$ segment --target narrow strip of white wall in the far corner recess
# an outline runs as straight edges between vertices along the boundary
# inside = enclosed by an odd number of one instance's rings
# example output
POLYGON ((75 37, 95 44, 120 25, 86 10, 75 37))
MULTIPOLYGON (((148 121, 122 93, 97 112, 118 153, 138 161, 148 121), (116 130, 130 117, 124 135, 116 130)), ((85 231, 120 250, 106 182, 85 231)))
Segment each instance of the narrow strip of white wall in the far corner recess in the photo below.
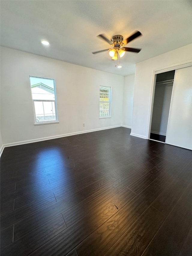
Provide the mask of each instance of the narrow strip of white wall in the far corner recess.
POLYGON ((122 125, 131 128, 135 74, 124 77, 122 125))

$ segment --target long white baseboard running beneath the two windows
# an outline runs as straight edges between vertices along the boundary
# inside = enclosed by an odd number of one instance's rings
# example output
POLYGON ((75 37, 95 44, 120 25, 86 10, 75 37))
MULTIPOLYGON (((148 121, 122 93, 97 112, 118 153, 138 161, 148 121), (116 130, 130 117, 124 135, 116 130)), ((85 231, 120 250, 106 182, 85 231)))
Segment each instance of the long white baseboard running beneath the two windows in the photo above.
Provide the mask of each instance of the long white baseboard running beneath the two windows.
POLYGON ((72 133, 67 133, 67 134, 38 138, 38 139, 34 139, 34 140, 23 140, 23 141, 18 141, 18 142, 13 142, 13 143, 7 143, 7 144, 4 144, 4 147, 18 146, 18 145, 22 145, 22 144, 34 143, 34 142, 39 142, 39 141, 43 141, 43 140, 52 140, 52 139, 57 139, 57 138, 62 138, 62 137, 67 137, 67 136, 72 136, 72 135, 77 135, 77 134, 83 134, 83 133, 88 133, 88 132, 93 132, 93 131, 101 131, 101 130, 117 128, 117 127, 121 127, 121 125, 98 128, 98 129, 87 130, 87 131, 72 132, 72 133))

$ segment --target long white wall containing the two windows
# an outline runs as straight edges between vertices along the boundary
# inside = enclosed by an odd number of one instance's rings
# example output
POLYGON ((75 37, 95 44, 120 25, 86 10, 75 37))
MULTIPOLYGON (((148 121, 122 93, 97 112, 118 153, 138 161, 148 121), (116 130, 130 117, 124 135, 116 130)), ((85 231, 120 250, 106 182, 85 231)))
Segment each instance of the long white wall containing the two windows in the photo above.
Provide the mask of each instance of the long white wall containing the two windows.
POLYGON ((124 77, 1 47, 4 144, 122 124, 124 77), (58 124, 34 126, 29 76, 55 79, 58 124), (111 118, 99 119, 99 86, 112 87, 111 118), (85 127, 82 127, 82 123, 85 127))

